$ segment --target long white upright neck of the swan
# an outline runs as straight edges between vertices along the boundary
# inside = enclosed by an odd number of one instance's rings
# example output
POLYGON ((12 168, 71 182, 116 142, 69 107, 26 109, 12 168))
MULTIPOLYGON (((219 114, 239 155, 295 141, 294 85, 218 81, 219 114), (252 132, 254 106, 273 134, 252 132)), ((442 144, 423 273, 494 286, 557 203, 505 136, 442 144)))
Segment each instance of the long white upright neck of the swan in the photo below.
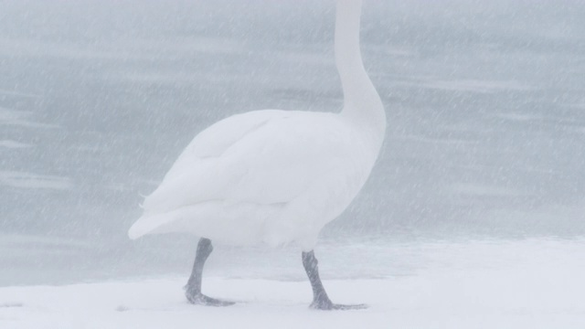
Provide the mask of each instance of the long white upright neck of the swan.
POLYGON ((341 115, 360 124, 379 149, 386 132, 386 114, 359 50, 361 5, 361 0, 337 0, 335 64, 344 90, 341 115))

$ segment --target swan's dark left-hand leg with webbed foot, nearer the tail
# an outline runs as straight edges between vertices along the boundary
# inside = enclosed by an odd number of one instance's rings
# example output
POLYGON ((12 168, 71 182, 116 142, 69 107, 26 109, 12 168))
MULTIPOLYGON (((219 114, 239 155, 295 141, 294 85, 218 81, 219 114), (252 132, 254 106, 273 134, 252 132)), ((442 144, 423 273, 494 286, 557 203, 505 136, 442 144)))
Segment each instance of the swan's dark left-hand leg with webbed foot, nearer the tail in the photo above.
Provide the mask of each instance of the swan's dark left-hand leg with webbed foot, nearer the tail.
POLYGON ((209 254, 213 251, 211 240, 206 238, 199 239, 197 244, 197 254, 195 256, 195 263, 193 264, 193 271, 189 281, 186 282, 185 295, 186 299, 193 304, 207 305, 207 306, 229 306, 235 302, 220 301, 215 298, 207 297, 201 293, 201 276, 203 274, 203 266, 209 254))

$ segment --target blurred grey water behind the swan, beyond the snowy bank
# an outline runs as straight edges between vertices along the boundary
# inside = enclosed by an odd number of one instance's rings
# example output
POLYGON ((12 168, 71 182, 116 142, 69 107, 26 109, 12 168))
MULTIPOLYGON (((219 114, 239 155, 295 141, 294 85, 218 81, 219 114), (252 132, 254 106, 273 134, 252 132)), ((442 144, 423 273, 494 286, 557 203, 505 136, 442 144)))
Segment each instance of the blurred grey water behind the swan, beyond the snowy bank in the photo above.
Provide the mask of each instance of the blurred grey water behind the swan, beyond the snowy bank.
MULTIPOLYGON (((366 1, 388 134, 324 240, 585 235, 583 17, 366 1)), ((188 271, 195 238, 126 238, 141 195, 221 118, 338 111, 333 25, 332 1, 0 1, 0 285, 188 271)))

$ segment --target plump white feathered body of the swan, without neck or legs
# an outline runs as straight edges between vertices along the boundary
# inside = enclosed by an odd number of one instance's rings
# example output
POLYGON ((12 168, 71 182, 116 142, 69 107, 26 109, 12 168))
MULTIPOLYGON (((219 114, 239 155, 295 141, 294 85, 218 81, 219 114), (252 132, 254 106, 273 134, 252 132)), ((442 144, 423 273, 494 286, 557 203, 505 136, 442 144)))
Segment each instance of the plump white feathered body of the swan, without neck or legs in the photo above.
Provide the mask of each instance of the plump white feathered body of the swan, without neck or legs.
POLYGON ((151 196, 133 237, 186 231, 218 242, 313 248, 356 196, 376 158, 332 113, 252 111, 189 144, 151 196))

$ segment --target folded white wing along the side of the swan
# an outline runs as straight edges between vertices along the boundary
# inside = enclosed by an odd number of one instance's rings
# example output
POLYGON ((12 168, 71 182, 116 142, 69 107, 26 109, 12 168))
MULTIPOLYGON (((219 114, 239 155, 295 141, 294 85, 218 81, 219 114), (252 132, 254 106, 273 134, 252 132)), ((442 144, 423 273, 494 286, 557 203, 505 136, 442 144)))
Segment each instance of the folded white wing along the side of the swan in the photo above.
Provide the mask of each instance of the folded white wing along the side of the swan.
POLYGON ((210 200, 287 203, 323 175, 359 166, 357 140, 335 114, 254 111, 230 117, 197 135, 146 197, 144 211, 210 200))

